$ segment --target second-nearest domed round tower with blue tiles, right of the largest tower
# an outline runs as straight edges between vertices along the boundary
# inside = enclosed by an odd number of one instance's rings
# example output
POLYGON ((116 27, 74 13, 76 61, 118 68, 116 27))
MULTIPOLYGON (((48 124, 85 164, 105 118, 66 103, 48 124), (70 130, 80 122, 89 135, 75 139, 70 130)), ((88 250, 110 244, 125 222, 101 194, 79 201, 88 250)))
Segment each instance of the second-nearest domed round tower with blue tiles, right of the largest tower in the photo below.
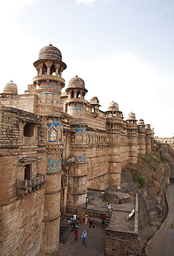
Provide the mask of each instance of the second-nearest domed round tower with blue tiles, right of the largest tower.
POLYGON ((67 210, 74 211, 77 206, 84 205, 87 194, 87 161, 86 161, 86 95, 84 80, 79 77, 70 79, 66 93, 66 111, 71 116, 72 134, 71 156, 75 163, 69 172, 67 210))

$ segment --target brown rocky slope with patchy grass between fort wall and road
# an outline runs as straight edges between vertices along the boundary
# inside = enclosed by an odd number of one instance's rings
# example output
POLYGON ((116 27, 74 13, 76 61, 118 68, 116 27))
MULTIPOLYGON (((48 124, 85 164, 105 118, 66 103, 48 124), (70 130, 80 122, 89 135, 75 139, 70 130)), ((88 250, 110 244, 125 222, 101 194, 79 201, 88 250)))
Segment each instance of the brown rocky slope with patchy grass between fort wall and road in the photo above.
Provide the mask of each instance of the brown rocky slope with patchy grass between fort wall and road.
POLYGON ((158 145, 154 148, 153 154, 139 158, 137 164, 127 165, 122 172, 122 192, 139 194, 140 229, 149 221, 160 225, 167 213, 165 192, 173 173, 174 151, 168 145, 158 145), (136 180, 135 170, 139 176, 146 179, 146 185, 143 187, 136 180))

